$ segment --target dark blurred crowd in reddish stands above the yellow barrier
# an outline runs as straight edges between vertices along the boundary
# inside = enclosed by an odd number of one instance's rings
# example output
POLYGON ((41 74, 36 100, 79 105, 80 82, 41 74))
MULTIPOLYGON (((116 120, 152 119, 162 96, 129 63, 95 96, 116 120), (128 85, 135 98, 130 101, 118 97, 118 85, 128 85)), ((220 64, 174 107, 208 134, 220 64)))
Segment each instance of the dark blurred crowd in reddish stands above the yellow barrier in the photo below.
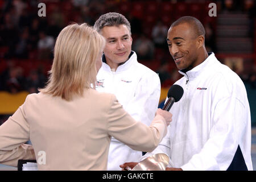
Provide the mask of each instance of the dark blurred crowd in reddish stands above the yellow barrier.
MULTIPOLYGON (((118 12, 131 23, 132 49, 140 63, 159 73, 163 87, 170 87, 180 78, 168 52, 166 36, 171 23, 183 15, 198 18, 205 27, 208 51, 218 55, 216 29, 218 14, 247 14, 250 19, 249 36, 254 51, 253 65, 243 71, 243 58, 220 59, 248 82, 255 84, 255 2, 246 1, 122 1, 122 0, 0 0, 0 90, 17 93, 26 90, 37 93, 47 82, 51 68, 53 47, 59 32, 71 22, 88 23, 108 12, 118 12), (46 4, 46 16, 39 17, 39 3, 46 4), (209 3, 216 3, 217 16, 210 17, 209 3)), ((225 54, 224 54, 225 55, 225 54)), ((223 56, 223 54, 222 54, 223 56)))

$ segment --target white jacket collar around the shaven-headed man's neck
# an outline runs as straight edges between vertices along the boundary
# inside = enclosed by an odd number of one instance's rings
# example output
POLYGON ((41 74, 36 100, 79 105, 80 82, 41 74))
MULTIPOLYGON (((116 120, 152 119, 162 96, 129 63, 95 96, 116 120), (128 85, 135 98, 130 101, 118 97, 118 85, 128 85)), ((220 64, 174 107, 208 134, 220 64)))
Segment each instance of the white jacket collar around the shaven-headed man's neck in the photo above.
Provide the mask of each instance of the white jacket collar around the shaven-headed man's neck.
POLYGON ((203 63, 197 65, 195 68, 185 73, 182 71, 179 71, 179 73, 181 75, 184 75, 189 81, 194 80, 197 76, 199 76, 202 72, 204 72, 207 67, 210 67, 212 63, 216 63, 216 61, 218 61, 213 52, 209 52, 208 55, 209 56, 207 57, 207 59, 205 59, 203 63))

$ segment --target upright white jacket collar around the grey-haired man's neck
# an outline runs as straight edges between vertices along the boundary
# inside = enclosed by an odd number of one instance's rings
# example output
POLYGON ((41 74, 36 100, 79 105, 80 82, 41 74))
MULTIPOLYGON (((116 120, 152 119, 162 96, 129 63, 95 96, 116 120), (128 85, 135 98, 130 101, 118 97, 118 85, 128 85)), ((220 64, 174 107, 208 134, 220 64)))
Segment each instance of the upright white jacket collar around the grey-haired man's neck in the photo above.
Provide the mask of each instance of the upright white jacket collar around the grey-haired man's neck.
MULTIPOLYGON (((119 67, 117 67, 117 70, 115 72, 123 72, 126 71, 127 69, 129 69, 131 67, 131 65, 133 65, 134 63, 138 63, 137 61, 137 55, 134 51, 131 51, 130 55, 129 55, 129 59, 123 63, 122 65, 119 65, 119 67)), ((105 69, 106 71, 111 71, 111 68, 109 67, 108 64, 106 64, 106 58, 105 55, 102 56, 102 69, 105 69)))

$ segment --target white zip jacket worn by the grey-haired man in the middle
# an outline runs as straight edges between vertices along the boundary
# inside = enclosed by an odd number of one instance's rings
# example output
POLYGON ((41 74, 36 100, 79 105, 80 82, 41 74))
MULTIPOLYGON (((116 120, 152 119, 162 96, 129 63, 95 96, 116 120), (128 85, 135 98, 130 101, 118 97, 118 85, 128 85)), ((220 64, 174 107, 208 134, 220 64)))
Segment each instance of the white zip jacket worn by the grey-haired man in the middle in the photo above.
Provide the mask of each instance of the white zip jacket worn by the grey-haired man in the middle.
MULTIPOLYGON (((137 55, 131 51, 130 59, 112 72, 104 63, 97 75, 96 90, 115 94, 119 103, 135 120, 147 126, 155 116, 160 98, 160 79, 151 69, 138 63, 137 55)), ((102 101, 104 102, 104 101, 102 101)), ((121 170, 120 164, 137 161, 141 151, 134 151, 112 138, 109 148, 108 170, 121 170)))

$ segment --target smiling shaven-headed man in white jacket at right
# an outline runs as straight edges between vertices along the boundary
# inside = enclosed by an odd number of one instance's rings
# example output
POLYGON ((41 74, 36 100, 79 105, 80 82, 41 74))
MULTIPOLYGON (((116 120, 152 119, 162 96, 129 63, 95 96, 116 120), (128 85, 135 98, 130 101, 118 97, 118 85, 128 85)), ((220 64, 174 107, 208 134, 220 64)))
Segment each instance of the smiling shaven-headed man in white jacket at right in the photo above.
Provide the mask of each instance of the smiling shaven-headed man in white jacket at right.
POLYGON ((184 94, 170 109, 173 122, 166 137, 143 158, 165 153, 171 159, 167 170, 253 170, 245 86, 213 52, 207 53, 204 40, 198 19, 183 16, 172 23, 167 43, 183 75, 175 84, 184 94))

